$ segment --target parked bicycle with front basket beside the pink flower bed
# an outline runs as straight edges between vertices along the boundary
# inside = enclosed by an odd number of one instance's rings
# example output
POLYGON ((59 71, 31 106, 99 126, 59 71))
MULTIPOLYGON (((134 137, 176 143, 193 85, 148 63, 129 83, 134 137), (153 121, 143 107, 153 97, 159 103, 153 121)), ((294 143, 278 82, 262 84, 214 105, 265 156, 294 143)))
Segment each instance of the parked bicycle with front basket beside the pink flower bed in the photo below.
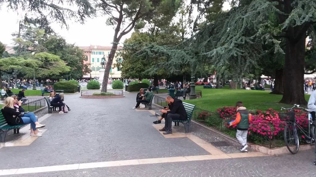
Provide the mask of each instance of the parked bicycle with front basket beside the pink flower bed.
POLYGON ((284 141, 285 145, 288 148, 288 150, 292 154, 296 154, 299 150, 300 144, 299 144, 299 138, 297 134, 297 128, 301 131, 301 133, 304 134, 305 136, 305 141, 307 143, 310 143, 311 146, 314 145, 315 143, 315 122, 312 120, 311 117, 311 110, 300 107, 300 105, 294 105, 291 108, 281 108, 282 110, 289 110, 289 112, 286 113, 279 113, 279 118, 281 121, 285 121, 286 125, 284 127, 284 141), (296 118, 295 118, 295 112, 293 111, 293 108, 302 108, 304 111, 307 111, 307 119, 308 119, 308 132, 305 131, 299 124, 296 123, 296 118), (310 142, 309 142, 310 141, 310 142), (291 143, 294 142, 294 145, 291 143))

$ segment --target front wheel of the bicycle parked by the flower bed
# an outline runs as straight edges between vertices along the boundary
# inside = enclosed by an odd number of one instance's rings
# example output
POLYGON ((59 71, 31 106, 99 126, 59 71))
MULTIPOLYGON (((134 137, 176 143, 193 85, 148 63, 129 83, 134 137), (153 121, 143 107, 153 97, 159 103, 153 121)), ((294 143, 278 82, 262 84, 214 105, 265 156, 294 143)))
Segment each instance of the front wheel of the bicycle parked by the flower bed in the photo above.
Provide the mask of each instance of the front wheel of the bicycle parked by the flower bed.
POLYGON ((297 129, 296 127, 293 127, 292 123, 288 123, 285 125, 284 128, 284 141, 285 141, 285 146, 288 148, 288 150, 292 154, 296 154, 300 144, 298 140, 298 135, 297 135, 297 129))

